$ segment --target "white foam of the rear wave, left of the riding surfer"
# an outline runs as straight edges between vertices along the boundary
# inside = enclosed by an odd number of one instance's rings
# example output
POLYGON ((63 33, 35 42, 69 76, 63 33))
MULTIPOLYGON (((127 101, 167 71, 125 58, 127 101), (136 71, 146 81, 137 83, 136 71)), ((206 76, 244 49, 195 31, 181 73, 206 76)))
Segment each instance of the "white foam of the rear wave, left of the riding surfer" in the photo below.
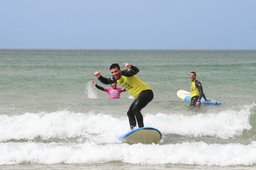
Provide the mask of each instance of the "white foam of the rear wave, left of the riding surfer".
POLYGON ((95 115, 93 112, 82 114, 58 111, 42 114, 26 113, 13 117, 1 115, 0 141, 32 140, 37 136, 42 139, 83 136, 97 142, 113 142, 116 141, 115 136, 118 133, 116 129, 127 130, 117 128, 124 124, 127 124, 126 128, 129 127, 128 121, 100 113, 95 115), (111 135, 113 138, 108 137, 109 133, 113 133, 111 135))

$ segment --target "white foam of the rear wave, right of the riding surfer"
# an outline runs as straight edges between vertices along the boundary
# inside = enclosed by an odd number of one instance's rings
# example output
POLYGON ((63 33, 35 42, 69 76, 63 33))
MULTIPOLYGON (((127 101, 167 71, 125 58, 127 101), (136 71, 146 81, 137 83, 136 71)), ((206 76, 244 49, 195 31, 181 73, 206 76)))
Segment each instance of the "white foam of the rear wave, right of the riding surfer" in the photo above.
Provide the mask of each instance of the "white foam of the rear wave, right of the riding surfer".
POLYGON ((217 136, 220 138, 241 135, 244 129, 251 129, 250 108, 245 106, 237 110, 226 110, 220 113, 197 114, 192 116, 167 115, 158 113, 147 115, 145 121, 151 122, 153 127, 161 129, 164 134, 179 134, 189 136, 217 136))

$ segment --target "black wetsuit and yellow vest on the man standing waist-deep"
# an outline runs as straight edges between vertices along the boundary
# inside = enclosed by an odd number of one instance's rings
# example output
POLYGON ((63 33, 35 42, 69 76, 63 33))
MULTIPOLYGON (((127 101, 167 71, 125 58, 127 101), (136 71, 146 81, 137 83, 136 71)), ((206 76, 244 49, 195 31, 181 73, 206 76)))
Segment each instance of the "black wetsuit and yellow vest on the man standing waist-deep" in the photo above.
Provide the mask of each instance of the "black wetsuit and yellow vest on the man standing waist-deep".
MULTIPOLYGON (((204 100, 207 100, 205 95, 204 95, 204 92, 203 92, 202 84, 200 83, 200 81, 195 79, 191 83, 191 102, 190 102, 190 106, 196 106, 196 102, 200 102, 202 97, 204 98, 204 100)), ((200 102, 200 104, 201 104, 201 102, 200 102)))

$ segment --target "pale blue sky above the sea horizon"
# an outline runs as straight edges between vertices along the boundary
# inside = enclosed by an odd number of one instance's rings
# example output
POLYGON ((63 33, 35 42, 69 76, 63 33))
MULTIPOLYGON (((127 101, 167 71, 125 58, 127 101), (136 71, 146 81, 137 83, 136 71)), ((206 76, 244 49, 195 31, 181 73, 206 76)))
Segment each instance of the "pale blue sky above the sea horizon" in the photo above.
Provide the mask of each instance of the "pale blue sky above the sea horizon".
POLYGON ((256 49, 256 0, 0 4, 2 49, 256 49))

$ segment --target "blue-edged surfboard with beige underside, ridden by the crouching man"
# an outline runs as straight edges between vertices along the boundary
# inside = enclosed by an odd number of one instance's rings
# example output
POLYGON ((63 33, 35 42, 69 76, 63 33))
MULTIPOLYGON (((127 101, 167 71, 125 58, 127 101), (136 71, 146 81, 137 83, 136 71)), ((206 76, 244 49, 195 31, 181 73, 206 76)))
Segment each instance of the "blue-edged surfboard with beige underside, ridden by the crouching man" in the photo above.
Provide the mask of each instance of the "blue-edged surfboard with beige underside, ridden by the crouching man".
POLYGON ((156 128, 143 127, 134 129, 122 136, 118 137, 124 143, 134 144, 157 144, 162 138, 162 133, 156 128))

